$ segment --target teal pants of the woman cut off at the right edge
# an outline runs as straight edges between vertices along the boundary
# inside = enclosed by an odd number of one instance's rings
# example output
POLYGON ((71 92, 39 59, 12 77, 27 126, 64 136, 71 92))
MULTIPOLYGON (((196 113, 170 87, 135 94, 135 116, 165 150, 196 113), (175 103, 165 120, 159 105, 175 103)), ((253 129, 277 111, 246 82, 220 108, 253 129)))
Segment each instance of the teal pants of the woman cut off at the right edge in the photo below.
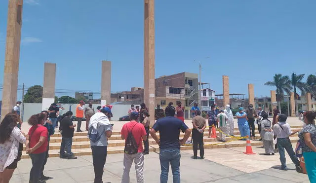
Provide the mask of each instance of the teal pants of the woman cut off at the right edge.
POLYGON ((311 183, 316 183, 316 152, 303 152, 305 167, 311 183))

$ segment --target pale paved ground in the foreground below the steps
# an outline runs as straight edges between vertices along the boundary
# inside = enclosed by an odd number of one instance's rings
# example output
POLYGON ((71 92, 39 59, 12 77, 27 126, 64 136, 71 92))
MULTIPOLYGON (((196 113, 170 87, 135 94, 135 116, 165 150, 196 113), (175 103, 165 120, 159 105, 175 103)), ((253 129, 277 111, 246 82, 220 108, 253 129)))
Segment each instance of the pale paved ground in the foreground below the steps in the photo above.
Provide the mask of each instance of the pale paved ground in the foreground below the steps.
MULTIPOLYGON (((243 154, 243 147, 206 149, 205 159, 192 159, 192 150, 181 151, 182 183, 309 183, 305 174, 295 171, 289 164, 288 171, 280 170, 279 155, 264 156, 264 150, 253 147, 255 155, 243 154)), ((123 170, 123 154, 109 154, 103 174, 104 183, 119 183, 123 170)), ((292 163, 287 158, 287 163, 292 163)), ((136 183, 135 171, 130 171, 131 183, 136 183)), ((31 160, 22 159, 12 177, 12 183, 27 183, 31 160)), ((92 156, 79 156, 77 160, 49 158, 44 174, 53 179, 47 183, 92 183, 94 179, 92 156)), ((158 153, 145 156, 145 183, 159 183, 160 164, 158 153)), ((169 173, 169 183, 172 175, 169 173)))

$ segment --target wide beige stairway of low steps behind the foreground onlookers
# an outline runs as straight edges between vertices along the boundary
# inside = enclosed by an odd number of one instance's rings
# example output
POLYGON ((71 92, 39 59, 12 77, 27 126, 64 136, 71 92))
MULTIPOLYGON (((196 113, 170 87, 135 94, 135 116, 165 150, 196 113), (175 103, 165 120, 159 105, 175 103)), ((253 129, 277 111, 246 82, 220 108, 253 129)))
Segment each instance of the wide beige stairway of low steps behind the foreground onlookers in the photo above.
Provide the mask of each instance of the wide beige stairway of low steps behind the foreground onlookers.
MULTIPOLYGON (((292 126, 292 130, 300 130, 302 129, 302 126, 292 126)), ((217 136, 219 135, 219 132, 216 131, 217 136)), ((159 134, 157 133, 158 137, 159 134)), ((191 134, 192 135, 192 134, 191 134)), ((239 131, 237 128, 234 130, 235 137, 240 137, 239 131)), ((263 143, 258 141, 260 139, 259 132, 256 130, 256 138, 255 140, 251 140, 252 146, 262 146, 263 143)), ((180 138, 183 138, 184 133, 180 133, 180 138)), ((204 148, 230 148, 230 147, 243 147, 245 146, 245 141, 232 141, 227 143, 220 143, 217 142, 217 139, 214 138, 207 138, 208 136, 208 128, 204 130, 204 148)), ((191 136, 189 140, 191 139, 191 136)), ((233 138, 226 138, 226 141, 234 140, 233 138)), ((297 142, 298 136, 297 134, 290 137, 290 140, 292 143, 297 142)), ((108 141, 108 154, 115 154, 115 153, 123 153, 124 151, 124 144, 125 141, 121 140, 120 134, 118 131, 113 132, 113 135, 111 138, 109 138, 108 141)), ((61 144, 61 134, 59 132, 56 132, 54 135, 50 138, 49 143, 49 157, 59 157, 59 149, 61 144)), ((181 146, 181 150, 188 150, 192 149, 192 146, 181 146)), ((155 140, 149 136, 149 150, 150 151, 159 151, 159 146, 155 142, 155 140)), ((80 155, 91 155, 91 148, 90 148, 90 141, 87 138, 87 132, 75 132, 74 138, 73 138, 73 146, 72 146, 72 152, 76 156, 80 155)), ((22 158, 29 158, 30 156, 25 153, 25 150, 22 153, 22 158)))

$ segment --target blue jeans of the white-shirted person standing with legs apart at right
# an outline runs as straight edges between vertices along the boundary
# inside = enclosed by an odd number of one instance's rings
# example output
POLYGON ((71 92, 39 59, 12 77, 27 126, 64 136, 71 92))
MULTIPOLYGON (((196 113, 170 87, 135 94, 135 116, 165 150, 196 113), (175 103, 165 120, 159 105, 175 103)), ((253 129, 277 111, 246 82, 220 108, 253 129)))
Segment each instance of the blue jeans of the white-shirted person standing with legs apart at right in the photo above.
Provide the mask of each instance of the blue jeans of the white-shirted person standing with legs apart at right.
POLYGON ((300 161, 297 159, 295 152, 293 150, 291 141, 289 138, 277 138, 277 148, 278 148, 278 153, 280 154, 280 161, 281 161, 281 168, 284 169, 286 168, 286 162, 285 162, 285 151, 288 153, 290 156, 291 160, 295 164, 295 166, 300 165, 300 161))

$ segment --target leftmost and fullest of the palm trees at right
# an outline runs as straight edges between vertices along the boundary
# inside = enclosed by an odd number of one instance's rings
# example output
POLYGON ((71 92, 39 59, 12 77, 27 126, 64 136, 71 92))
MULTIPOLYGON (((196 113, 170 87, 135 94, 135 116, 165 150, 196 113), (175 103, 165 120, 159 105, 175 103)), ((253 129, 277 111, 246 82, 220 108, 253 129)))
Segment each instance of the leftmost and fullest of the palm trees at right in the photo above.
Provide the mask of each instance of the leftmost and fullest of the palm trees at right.
POLYGON ((287 75, 277 73, 275 76, 273 76, 273 81, 268 81, 265 83, 265 85, 276 86, 276 101, 278 110, 281 112, 281 100, 283 99, 284 92, 290 93, 292 89, 289 77, 287 75))

